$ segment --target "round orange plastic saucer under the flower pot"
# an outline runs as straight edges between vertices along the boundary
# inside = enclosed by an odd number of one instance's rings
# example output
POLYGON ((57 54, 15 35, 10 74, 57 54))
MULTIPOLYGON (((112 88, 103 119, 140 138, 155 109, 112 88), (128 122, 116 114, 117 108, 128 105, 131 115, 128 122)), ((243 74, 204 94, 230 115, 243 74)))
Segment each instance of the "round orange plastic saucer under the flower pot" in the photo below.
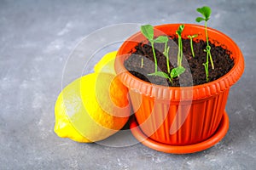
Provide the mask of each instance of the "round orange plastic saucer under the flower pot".
POLYGON ((219 123, 219 127, 212 135, 211 138, 202 141, 201 143, 197 144, 189 144, 189 145, 168 145, 168 144, 162 144, 160 142, 157 142, 153 139, 148 138, 138 127, 137 122, 135 118, 131 120, 130 129, 133 136, 142 144, 148 146, 149 148, 153 150, 158 150, 166 153, 172 153, 172 154, 189 154, 198 152, 201 150, 206 150, 212 145, 217 144, 221 139, 224 138, 224 135, 228 132, 229 129, 229 117, 227 113, 224 111, 224 116, 219 123))

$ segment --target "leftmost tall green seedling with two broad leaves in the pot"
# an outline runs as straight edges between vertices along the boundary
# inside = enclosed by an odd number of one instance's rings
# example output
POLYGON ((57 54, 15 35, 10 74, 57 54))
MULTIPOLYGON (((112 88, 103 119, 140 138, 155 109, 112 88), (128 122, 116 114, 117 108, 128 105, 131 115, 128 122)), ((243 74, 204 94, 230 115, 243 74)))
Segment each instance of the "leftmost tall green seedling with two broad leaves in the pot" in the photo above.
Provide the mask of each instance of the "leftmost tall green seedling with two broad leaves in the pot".
POLYGON ((166 42, 166 39, 168 41, 168 38, 165 36, 160 36, 154 39, 154 27, 150 25, 144 25, 141 26, 141 32, 143 33, 143 36, 148 39, 148 41, 151 43, 152 52, 154 55, 154 73, 157 72, 157 59, 154 51, 154 42, 166 42))

